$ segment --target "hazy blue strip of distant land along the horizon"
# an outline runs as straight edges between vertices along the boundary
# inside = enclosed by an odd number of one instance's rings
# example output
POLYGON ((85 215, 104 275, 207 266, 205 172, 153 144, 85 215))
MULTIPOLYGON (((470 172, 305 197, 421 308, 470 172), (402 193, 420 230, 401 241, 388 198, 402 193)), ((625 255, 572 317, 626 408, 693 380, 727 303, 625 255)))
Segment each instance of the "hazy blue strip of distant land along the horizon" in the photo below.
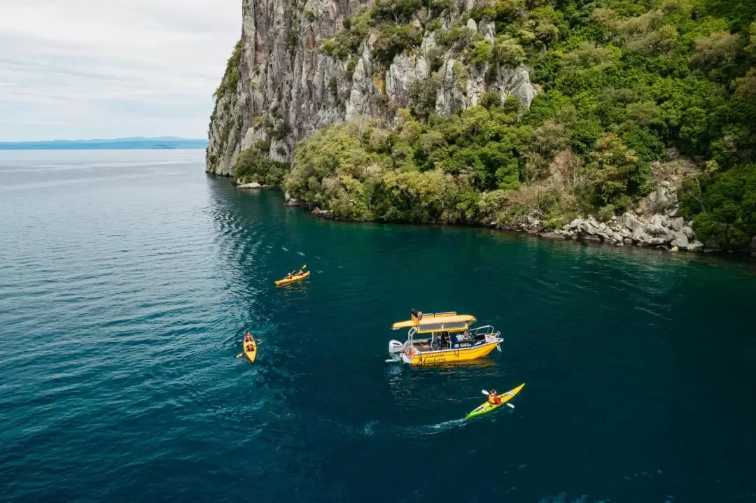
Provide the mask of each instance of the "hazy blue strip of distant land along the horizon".
POLYGON ((95 140, 0 141, 0 150, 204 149, 207 140, 194 138, 129 137, 95 140))

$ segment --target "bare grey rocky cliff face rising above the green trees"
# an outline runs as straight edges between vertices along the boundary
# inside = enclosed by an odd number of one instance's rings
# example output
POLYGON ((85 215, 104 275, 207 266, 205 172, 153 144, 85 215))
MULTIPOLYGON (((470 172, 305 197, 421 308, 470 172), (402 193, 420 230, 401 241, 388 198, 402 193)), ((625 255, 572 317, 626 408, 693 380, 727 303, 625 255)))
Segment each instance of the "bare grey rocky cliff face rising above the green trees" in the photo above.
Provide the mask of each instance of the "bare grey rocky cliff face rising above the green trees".
MULTIPOLYGON (((463 63, 453 50, 439 48, 437 30, 423 29, 417 20, 414 24, 423 32, 420 48, 397 54, 389 65, 374 60, 375 33, 361 42, 356 57, 340 60, 326 54, 323 42, 342 29, 345 18, 370 3, 243 0, 239 78, 234 88, 216 98, 208 172, 230 175, 240 151, 253 144, 273 160, 290 161, 296 143, 319 128, 361 116, 392 121, 398 108, 413 99, 415 83, 423 86, 423 96, 435 98, 433 106, 442 114, 475 105, 491 91, 502 100, 515 95, 530 106, 536 89, 528 69, 489 72, 485 66, 463 63), (438 66, 435 72, 432 66, 438 66)), ((442 27, 470 8, 472 2, 457 2, 445 11, 442 27)), ((494 23, 480 25, 471 19, 466 28, 492 40, 494 23)))

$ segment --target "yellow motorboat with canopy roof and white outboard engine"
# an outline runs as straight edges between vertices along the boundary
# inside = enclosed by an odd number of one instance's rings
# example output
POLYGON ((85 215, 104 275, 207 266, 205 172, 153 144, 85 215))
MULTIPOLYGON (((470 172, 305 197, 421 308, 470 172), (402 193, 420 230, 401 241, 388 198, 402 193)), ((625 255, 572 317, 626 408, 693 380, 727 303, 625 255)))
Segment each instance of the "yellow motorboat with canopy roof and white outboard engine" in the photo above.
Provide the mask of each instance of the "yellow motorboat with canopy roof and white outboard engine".
POLYGON ((389 341, 387 362, 413 366, 457 363, 476 360, 491 353, 503 339, 490 325, 471 329, 476 317, 469 314, 423 314, 413 309, 407 321, 396 322, 392 329, 409 329, 407 341, 389 341), (417 337, 421 335, 421 337, 417 337))

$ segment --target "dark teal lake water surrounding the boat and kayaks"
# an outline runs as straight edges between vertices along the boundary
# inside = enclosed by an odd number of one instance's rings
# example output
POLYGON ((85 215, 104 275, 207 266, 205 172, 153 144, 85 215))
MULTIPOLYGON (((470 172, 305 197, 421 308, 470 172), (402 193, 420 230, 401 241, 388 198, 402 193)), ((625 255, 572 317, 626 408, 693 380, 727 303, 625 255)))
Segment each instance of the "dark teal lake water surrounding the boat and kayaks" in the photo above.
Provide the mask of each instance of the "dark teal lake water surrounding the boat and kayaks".
POLYGON ((2 501, 756 501, 753 261, 281 202, 197 150, 2 153, 2 501), (503 351, 386 364, 412 307, 503 351))

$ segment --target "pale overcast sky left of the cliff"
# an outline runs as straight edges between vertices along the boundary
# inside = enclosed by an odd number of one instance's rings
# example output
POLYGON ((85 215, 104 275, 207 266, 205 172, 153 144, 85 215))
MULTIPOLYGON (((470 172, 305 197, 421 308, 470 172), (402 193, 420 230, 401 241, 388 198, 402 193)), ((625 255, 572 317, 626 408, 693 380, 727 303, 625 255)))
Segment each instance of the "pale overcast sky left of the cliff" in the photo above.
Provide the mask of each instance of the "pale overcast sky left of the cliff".
POLYGON ((206 137, 241 0, 0 5, 0 141, 206 137))

